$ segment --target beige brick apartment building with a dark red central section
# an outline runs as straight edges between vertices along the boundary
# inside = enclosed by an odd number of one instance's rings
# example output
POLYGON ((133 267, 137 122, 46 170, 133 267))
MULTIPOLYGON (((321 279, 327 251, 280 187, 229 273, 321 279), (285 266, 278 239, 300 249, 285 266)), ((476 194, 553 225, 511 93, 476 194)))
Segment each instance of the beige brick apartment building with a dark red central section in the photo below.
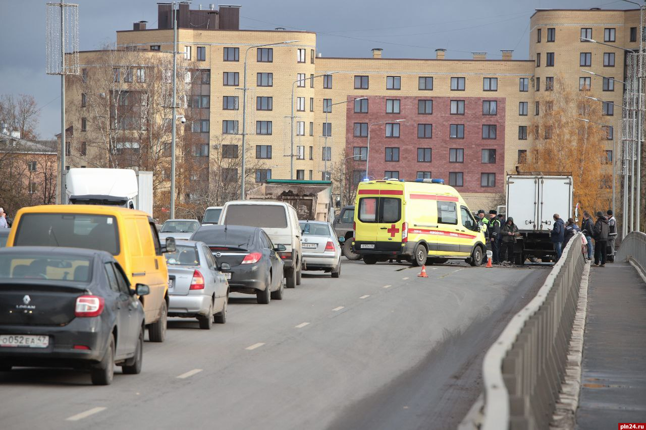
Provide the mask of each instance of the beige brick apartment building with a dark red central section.
MULTIPOLYGON (((168 57, 169 8, 158 5, 160 28, 140 22, 118 31, 118 48, 168 57)), ((181 68, 192 82, 185 105, 180 101, 190 121, 178 123, 178 130, 202 145, 195 155, 203 169, 216 168, 218 151, 241 154, 245 105, 247 166, 251 159, 255 170, 247 172, 250 181, 336 181, 335 169, 351 163, 351 183, 364 178, 368 161, 372 178, 444 178, 474 209, 486 209, 504 200, 506 172, 522 170, 533 144, 527 130, 539 114, 536 101, 551 79, 563 77, 576 90, 621 105, 620 83, 581 69, 623 81, 624 51, 580 38, 636 48, 639 12, 537 10, 530 18, 529 59, 516 59, 510 50, 451 59, 441 48, 432 59, 401 59, 380 48, 366 57, 323 57, 313 32, 240 30, 238 19, 235 6, 215 11, 183 4, 178 11, 181 68)), ((89 55, 81 54, 81 63, 89 55)), ((78 88, 68 92, 68 104, 78 103, 78 88)), ((602 108, 605 123, 620 130, 621 109, 599 103, 602 108)), ((68 115, 68 121, 81 128, 78 116, 68 115)), ((611 132, 609 137, 612 150, 611 132)), ((70 164, 76 166, 81 161, 73 152, 70 164)))

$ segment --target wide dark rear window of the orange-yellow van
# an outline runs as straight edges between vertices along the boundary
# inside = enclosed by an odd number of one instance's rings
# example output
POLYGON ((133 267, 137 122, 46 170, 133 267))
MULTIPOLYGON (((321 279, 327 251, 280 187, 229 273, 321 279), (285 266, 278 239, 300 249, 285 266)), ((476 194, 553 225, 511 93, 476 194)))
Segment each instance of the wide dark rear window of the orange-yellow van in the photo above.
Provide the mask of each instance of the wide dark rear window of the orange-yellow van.
POLYGON ((90 214, 24 214, 14 245, 98 249, 119 254, 114 216, 90 214))

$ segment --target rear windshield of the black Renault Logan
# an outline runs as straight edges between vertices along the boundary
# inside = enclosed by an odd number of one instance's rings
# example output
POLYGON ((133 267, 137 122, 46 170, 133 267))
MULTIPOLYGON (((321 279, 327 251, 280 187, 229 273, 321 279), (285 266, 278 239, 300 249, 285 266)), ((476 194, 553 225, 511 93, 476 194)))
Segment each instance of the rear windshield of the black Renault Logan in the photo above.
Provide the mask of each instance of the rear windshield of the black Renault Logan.
POLYGON ((90 282, 92 258, 45 254, 1 254, 0 279, 90 282))

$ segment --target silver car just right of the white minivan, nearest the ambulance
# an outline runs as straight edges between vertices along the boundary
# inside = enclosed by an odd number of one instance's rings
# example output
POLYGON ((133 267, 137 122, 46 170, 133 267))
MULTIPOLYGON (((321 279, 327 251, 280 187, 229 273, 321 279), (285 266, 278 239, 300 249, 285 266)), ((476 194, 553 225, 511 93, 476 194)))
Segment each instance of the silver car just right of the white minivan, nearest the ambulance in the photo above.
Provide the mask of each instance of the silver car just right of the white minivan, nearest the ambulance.
POLYGON ((303 234, 301 247, 306 271, 330 272, 332 278, 341 275, 339 238, 325 221, 300 221, 303 234))

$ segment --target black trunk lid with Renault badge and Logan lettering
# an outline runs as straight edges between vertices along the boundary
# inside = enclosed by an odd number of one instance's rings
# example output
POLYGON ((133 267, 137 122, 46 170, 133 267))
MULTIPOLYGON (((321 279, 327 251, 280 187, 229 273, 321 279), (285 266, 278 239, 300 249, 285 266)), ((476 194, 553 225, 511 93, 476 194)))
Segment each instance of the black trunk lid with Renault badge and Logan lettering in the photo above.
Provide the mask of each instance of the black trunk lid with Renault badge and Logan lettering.
POLYGON ((0 284, 0 324, 66 325, 85 289, 37 283, 0 284))

